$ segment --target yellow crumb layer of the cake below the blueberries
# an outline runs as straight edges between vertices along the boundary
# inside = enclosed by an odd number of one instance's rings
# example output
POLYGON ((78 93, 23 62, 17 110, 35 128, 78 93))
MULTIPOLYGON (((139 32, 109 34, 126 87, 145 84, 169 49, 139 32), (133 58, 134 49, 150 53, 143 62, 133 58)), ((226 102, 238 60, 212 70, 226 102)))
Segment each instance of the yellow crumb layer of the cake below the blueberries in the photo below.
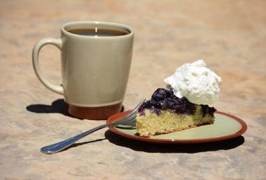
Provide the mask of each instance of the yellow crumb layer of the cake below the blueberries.
POLYGON ((161 111, 159 115, 149 109, 145 115, 136 116, 136 131, 139 136, 150 137, 157 134, 182 131, 203 124, 213 124, 214 117, 201 114, 201 106, 196 105, 196 111, 192 115, 177 114, 171 111, 161 111))

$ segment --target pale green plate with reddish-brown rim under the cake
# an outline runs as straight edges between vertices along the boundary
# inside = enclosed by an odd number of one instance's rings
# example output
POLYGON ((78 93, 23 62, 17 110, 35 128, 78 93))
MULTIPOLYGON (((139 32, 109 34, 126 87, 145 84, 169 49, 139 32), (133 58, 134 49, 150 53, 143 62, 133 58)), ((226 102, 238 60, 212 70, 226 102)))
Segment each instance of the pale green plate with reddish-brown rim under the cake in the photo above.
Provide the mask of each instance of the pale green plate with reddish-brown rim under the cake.
MULTIPOLYGON (((120 117, 124 117, 130 111, 118 113, 112 115, 107 120, 107 123, 114 122, 120 117)), ((131 138, 134 140, 141 140, 146 142, 157 143, 201 143, 201 142, 213 142, 217 140, 226 140, 229 138, 235 138, 240 136, 247 130, 247 124, 240 120, 240 118, 227 113, 216 112, 214 113, 214 124, 208 124, 198 126, 196 128, 187 129, 183 131, 177 131, 174 133, 167 133, 150 138, 143 138, 136 135, 136 129, 120 129, 116 127, 110 127, 109 129, 114 133, 125 138, 131 138)))

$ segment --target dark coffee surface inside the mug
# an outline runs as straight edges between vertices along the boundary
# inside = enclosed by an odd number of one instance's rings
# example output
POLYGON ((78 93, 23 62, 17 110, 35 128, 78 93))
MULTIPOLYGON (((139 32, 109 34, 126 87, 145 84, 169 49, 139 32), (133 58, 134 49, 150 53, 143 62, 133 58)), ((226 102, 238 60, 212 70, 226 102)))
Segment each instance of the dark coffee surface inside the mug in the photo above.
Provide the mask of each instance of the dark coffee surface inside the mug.
POLYGON ((111 28, 68 28, 67 31, 77 35, 88 35, 94 37, 119 36, 127 35, 129 33, 127 31, 111 28))

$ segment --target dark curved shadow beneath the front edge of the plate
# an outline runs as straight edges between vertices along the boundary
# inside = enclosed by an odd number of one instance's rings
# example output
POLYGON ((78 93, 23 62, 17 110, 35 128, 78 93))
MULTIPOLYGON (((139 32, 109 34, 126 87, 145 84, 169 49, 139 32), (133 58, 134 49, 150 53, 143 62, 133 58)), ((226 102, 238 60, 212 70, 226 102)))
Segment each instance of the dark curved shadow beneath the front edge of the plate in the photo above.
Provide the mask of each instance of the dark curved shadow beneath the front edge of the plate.
POLYGON ((198 152, 211 152, 218 150, 228 150, 238 147, 244 143, 244 137, 238 136, 228 140, 221 140, 217 142, 206 142, 201 144, 180 144, 180 145, 166 145, 166 144, 155 144, 150 142, 141 142, 138 140, 132 140, 119 136, 110 130, 104 133, 105 138, 109 142, 130 148, 138 152, 150 152, 150 153, 198 153, 198 152))

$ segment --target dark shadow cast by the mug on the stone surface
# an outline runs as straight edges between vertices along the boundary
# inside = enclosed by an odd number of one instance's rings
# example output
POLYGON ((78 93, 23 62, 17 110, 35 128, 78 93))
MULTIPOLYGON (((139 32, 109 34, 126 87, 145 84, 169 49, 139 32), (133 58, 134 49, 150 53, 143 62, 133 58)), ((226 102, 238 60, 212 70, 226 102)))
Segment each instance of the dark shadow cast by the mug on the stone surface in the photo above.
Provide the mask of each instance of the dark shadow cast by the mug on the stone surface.
MULTIPOLYGON (((60 113, 68 117, 73 117, 68 113, 64 99, 56 99, 52 102, 51 105, 31 104, 29 106, 26 106, 26 110, 32 113, 60 113)), ((125 108, 124 106, 122 106, 120 112, 123 112, 124 110, 125 108)))

